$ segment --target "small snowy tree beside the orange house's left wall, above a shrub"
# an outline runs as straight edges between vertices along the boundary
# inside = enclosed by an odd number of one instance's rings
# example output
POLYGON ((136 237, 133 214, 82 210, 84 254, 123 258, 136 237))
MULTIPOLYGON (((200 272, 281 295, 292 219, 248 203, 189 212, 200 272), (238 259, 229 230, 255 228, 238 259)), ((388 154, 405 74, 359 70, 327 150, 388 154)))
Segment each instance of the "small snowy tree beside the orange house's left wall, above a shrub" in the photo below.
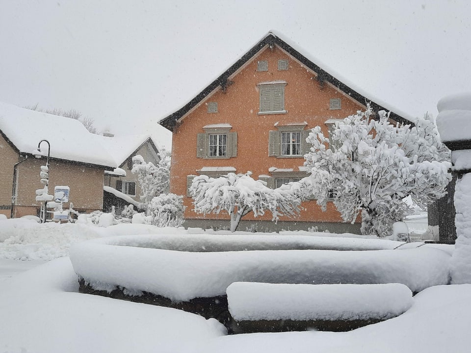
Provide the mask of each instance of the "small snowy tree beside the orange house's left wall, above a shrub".
POLYGON ((131 173, 137 174, 137 182, 141 187, 141 201, 147 205, 152 199, 169 189, 170 183, 170 153, 161 150, 158 154, 160 161, 157 165, 146 163, 141 155, 132 157, 131 173))

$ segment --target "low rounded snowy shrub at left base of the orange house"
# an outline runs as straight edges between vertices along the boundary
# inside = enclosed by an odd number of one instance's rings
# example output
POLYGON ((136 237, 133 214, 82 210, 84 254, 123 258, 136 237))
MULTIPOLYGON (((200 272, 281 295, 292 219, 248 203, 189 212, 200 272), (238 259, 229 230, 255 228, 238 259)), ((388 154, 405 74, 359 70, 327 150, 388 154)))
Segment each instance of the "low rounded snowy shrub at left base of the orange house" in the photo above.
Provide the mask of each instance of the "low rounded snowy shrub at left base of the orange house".
POLYGON ((183 196, 174 193, 155 196, 147 206, 146 222, 157 227, 180 227, 183 224, 183 196))

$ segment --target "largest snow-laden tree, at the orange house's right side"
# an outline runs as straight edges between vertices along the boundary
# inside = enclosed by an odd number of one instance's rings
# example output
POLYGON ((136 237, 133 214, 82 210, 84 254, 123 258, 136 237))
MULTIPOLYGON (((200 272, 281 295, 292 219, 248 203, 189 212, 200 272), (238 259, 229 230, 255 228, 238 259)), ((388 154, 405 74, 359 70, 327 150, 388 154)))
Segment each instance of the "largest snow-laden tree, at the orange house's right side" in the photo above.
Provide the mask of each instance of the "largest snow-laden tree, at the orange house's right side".
POLYGON ((362 216, 362 233, 387 236, 392 224, 408 214, 402 200, 410 195, 419 206, 445 195, 451 179, 449 153, 435 123, 426 116, 410 125, 392 125, 389 113, 372 110, 337 122, 327 138, 315 127, 304 157, 311 176, 304 181, 317 203, 332 200, 345 221, 362 216))

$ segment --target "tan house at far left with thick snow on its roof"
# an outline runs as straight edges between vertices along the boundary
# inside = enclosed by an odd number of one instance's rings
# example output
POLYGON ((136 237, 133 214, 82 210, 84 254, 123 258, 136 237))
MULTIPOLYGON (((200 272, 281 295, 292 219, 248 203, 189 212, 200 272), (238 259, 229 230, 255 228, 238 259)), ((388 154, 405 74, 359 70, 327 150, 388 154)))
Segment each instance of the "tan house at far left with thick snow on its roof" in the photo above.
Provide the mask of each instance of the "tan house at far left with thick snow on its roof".
POLYGON ((51 146, 49 193, 68 186, 75 210, 102 210, 105 170, 118 165, 96 137, 78 120, 0 103, 0 213, 15 218, 39 214, 35 191, 44 187, 39 172, 46 165, 47 143, 41 143, 45 157, 32 153, 43 139, 51 146))

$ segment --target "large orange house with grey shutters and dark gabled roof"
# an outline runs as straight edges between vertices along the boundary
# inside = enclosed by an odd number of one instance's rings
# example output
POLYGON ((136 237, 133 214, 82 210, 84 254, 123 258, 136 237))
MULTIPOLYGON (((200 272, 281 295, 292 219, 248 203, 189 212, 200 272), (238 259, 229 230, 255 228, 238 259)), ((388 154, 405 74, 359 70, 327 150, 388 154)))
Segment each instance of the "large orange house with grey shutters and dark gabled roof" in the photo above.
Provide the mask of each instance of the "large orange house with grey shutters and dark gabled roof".
MULTIPOLYGON (((183 108, 160 121, 173 132, 170 192, 184 195, 185 226, 228 227, 227 215, 193 212, 187 190, 195 175, 245 173, 275 188, 305 177, 303 155, 309 130, 321 126, 325 135, 338 119, 365 109, 391 111, 391 118, 410 118, 386 107, 354 85, 335 77, 269 32, 227 71, 183 108)), ((296 219, 270 215, 242 221, 239 229, 308 229, 359 233, 360 225, 342 223, 333 203, 322 212, 315 200, 303 203, 296 219), (259 222, 254 222, 257 220, 259 222)))

